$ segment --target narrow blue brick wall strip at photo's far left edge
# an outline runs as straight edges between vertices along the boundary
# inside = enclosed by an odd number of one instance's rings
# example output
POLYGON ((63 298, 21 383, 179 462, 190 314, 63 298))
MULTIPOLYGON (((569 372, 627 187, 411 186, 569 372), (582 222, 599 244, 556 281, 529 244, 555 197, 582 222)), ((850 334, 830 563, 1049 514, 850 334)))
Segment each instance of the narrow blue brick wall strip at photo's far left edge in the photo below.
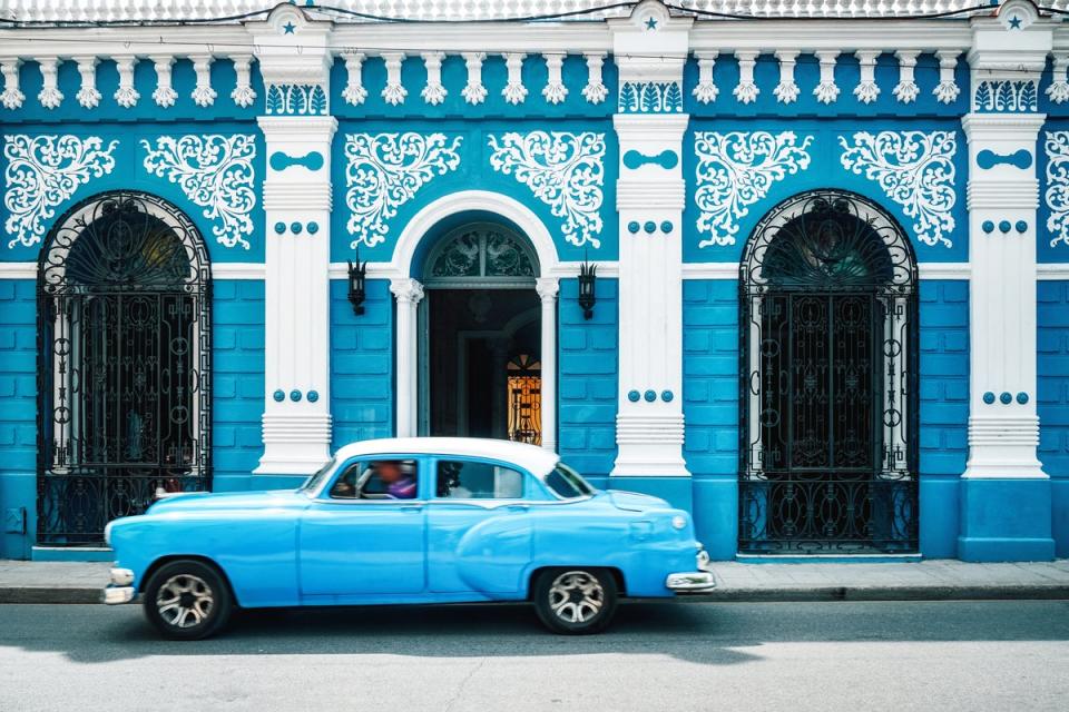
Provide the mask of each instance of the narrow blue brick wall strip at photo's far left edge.
POLYGON ((36 528, 37 305, 33 280, 0 279, 0 558, 28 558, 32 535, 3 533, 7 511, 36 528))

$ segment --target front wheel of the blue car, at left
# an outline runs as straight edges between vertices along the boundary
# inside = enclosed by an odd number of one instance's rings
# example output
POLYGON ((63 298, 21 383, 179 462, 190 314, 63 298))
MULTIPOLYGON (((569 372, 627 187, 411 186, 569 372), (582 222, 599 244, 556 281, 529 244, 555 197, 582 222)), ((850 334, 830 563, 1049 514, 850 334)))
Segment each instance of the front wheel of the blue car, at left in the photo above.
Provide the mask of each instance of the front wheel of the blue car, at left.
POLYGON ((165 637, 197 641, 226 624, 231 590, 214 567, 185 560, 164 564, 145 586, 145 615, 165 637))

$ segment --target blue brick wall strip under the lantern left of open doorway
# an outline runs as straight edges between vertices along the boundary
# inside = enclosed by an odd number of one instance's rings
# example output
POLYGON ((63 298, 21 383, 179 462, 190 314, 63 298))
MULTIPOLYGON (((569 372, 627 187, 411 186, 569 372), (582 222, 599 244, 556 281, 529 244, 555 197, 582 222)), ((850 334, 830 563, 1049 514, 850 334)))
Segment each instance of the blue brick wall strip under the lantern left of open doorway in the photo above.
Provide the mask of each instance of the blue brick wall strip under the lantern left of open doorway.
POLYGON ((356 316, 344 279, 331 281, 331 413, 334 448, 393 435, 393 297, 386 279, 367 280, 356 316))

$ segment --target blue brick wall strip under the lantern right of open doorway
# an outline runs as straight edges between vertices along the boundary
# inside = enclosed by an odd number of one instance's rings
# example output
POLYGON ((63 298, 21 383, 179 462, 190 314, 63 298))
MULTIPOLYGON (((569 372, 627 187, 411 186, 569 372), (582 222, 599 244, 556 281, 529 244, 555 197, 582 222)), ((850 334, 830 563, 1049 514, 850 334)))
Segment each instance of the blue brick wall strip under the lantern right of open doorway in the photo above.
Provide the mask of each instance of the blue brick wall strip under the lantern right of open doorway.
POLYGON ((605 486, 616 461, 619 281, 599 278, 582 318, 578 279, 561 279, 558 313, 558 438, 561 458, 605 486))

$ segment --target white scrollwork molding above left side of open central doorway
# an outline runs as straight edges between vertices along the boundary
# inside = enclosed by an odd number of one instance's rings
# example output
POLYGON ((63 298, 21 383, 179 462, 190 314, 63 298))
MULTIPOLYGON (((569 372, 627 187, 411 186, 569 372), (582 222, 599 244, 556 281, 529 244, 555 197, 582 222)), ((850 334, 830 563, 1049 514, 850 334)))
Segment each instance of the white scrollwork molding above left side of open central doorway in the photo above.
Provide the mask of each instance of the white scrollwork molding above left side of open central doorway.
POLYGON ((388 221, 434 176, 460 166, 460 136, 444 134, 346 134, 346 225, 351 247, 386 239, 388 221))

